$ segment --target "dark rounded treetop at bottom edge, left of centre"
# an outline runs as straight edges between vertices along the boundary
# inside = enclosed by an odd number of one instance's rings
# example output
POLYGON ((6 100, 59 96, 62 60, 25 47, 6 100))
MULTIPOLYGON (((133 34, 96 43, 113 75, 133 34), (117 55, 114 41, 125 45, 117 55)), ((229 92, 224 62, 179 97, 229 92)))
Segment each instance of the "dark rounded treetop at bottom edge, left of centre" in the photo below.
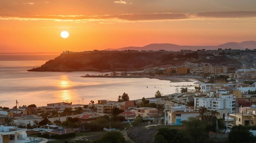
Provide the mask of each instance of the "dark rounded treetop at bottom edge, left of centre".
POLYGON ((93 143, 124 143, 124 135, 121 132, 106 132, 101 139, 93 141, 93 143))

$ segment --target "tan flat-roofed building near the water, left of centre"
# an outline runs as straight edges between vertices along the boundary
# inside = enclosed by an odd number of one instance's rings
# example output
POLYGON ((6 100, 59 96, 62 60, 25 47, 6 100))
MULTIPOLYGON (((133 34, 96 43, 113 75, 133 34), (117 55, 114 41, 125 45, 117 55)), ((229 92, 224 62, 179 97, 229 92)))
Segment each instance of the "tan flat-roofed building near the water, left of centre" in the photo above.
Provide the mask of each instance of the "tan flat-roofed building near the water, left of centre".
POLYGON ((94 105, 97 108, 97 113, 111 114, 114 108, 117 108, 116 104, 107 104, 107 100, 98 100, 98 104, 94 105))

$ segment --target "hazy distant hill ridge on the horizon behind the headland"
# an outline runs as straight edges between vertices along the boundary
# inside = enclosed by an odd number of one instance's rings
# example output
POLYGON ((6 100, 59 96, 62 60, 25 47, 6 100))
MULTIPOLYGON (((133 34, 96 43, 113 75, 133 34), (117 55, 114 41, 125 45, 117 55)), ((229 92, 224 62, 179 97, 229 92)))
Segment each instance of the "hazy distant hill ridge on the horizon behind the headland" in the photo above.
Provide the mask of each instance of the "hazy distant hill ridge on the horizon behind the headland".
POLYGON ((106 50, 119 50, 119 51, 123 51, 123 50, 154 50, 154 51, 158 51, 158 50, 166 50, 166 51, 178 51, 178 50, 216 50, 218 48, 222 48, 222 49, 240 49, 240 50, 245 50, 246 48, 249 49, 255 49, 256 48, 256 41, 243 41, 241 43, 237 43, 237 42, 229 42, 229 43, 225 43, 225 44, 221 44, 221 45, 216 45, 216 46, 192 46, 192 45, 175 45, 175 44, 171 44, 171 43, 153 43, 153 44, 149 44, 149 45, 145 45, 144 47, 124 47, 124 48, 119 48, 119 49, 111 49, 108 48, 106 50))

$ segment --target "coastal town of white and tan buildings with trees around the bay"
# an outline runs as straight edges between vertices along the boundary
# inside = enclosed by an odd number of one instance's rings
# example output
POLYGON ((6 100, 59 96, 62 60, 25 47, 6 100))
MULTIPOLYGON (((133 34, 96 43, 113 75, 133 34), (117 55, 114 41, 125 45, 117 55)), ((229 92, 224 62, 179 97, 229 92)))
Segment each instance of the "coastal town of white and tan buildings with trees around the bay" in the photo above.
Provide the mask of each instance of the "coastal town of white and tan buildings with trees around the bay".
MULTIPOLYGON (((93 52, 119 51, 94 50, 90 53, 93 52)), ((185 62, 141 72, 113 70, 108 74, 82 77, 192 78, 200 83, 193 90, 188 89, 190 85, 179 86, 177 83, 175 93, 163 95, 156 91, 152 98, 130 100, 124 91, 116 101, 106 97, 95 102, 90 99, 88 104, 59 102, 45 106, 18 106, 16 101, 13 108, 1 107, 0 143, 256 141, 255 50, 181 50, 170 53, 176 55, 173 61, 185 62), (191 57, 181 60, 179 55, 191 57), (204 56, 204 61, 209 63, 198 61, 194 55, 204 56), (226 57, 238 62, 230 63, 226 57), (239 139, 236 138, 238 134, 239 139)), ((66 51, 63 54, 76 53, 66 51)))

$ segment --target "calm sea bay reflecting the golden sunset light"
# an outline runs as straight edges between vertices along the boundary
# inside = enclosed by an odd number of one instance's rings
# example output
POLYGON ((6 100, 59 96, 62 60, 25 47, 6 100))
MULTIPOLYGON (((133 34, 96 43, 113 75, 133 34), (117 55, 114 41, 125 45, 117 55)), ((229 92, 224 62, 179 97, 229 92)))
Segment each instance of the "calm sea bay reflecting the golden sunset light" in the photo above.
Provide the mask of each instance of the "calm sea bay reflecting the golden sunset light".
MULTIPOLYGON (((194 82, 172 83, 149 78, 81 78, 99 72, 27 72, 43 65, 56 54, 0 54, 0 106, 19 106, 69 101, 89 104, 90 100, 117 100, 126 92, 130 100, 149 98, 157 90, 175 93, 171 85, 194 85, 194 82), (147 88, 148 87, 148 88, 147 88), (82 100, 84 98, 84 100, 82 100)), ((189 87, 189 89, 194 89, 189 87)))

